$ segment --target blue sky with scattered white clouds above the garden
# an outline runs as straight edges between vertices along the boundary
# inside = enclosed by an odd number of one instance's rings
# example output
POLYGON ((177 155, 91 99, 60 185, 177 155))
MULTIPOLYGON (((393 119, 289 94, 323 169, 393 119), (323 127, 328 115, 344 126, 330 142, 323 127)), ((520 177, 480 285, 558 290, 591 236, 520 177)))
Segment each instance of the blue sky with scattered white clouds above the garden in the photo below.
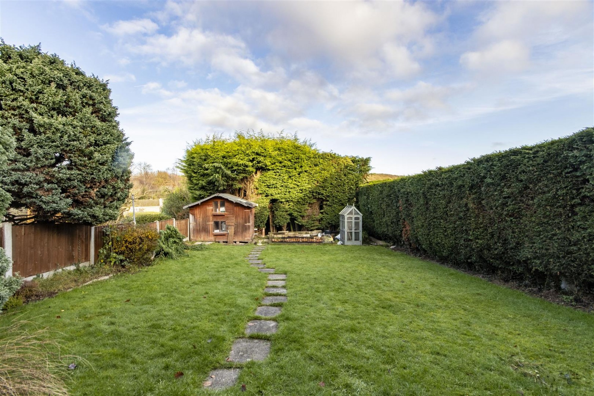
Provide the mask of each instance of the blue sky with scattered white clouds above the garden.
POLYGON ((591 1, 1 1, 0 37, 110 80, 135 161, 297 132, 415 174, 594 125, 591 1))

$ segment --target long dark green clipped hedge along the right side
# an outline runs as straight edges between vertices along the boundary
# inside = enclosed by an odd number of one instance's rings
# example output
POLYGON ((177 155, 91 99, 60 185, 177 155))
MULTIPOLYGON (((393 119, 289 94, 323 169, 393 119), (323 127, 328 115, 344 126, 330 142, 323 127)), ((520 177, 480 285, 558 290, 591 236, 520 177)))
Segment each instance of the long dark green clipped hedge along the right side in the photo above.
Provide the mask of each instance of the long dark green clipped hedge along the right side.
POLYGON ((361 188, 370 235, 438 260, 594 286, 594 128, 361 188))

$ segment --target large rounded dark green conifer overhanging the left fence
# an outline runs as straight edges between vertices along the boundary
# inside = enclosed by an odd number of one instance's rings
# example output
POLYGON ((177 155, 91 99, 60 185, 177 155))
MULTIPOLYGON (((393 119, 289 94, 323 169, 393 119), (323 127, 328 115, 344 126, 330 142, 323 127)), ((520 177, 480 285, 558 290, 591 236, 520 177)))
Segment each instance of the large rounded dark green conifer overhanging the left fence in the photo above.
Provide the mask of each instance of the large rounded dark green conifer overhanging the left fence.
POLYGON ((11 206, 31 209, 34 221, 116 219, 131 188, 132 159, 117 115, 105 81, 40 46, 2 41, 0 127, 16 146, 0 185, 11 206))

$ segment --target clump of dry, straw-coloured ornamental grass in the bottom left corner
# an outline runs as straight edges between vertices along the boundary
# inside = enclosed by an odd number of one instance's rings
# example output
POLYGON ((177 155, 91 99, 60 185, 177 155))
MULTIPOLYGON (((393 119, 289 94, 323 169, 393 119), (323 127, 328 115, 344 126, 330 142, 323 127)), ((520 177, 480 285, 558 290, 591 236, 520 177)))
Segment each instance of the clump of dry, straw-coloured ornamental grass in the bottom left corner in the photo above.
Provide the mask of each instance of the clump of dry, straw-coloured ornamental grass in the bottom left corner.
POLYGON ((48 330, 30 328, 24 320, 0 328, 0 394, 68 395, 62 378, 74 357, 61 354, 48 330))

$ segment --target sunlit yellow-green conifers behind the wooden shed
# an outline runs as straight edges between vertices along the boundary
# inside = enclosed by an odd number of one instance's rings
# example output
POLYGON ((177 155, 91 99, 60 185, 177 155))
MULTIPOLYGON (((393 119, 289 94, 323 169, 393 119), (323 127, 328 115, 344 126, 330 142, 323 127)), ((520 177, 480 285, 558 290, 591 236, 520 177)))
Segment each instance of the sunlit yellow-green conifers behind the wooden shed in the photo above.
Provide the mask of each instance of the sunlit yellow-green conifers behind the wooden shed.
POLYGON ((296 136, 247 132, 199 140, 186 151, 182 171, 194 200, 226 192, 257 202, 257 227, 272 210, 279 228, 333 228, 355 200, 369 161, 320 152, 296 136))

